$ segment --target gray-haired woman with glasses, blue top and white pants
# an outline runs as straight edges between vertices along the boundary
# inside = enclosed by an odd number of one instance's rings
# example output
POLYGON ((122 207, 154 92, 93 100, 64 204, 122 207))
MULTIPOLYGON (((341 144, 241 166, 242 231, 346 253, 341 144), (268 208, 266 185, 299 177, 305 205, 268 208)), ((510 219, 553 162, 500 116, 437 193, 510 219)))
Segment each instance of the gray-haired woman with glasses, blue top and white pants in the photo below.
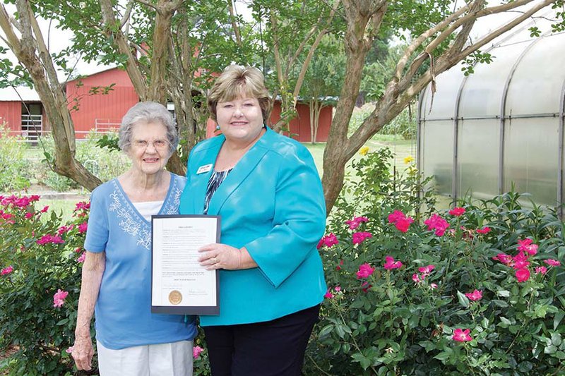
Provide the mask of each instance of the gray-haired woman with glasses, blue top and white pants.
POLYGON ((165 171, 179 142, 161 104, 141 102, 121 121, 131 169, 93 190, 73 358, 89 370, 95 311, 100 375, 192 375, 193 322, 150 312, 151 215, 178 214, 186 178, 165 171))

